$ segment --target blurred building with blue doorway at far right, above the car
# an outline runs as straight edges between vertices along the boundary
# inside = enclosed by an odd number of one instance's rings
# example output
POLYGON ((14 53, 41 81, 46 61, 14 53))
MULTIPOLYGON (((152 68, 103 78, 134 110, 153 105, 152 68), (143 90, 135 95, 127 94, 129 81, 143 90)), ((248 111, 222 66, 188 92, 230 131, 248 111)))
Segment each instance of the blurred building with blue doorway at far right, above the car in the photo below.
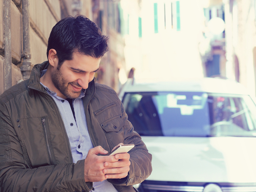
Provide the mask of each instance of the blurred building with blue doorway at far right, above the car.
MULTIPOLYGON (((212 17, 225 22, 225 30, 210 38, 210 51, 203 54, 206 71, 237 80, 256 95, 256 1, 205 1, 205 26, 212 17)), ((206 30, 206 31, 207 31, 206 30)), ((205 39, 207 39, 205 33, 205 39)))

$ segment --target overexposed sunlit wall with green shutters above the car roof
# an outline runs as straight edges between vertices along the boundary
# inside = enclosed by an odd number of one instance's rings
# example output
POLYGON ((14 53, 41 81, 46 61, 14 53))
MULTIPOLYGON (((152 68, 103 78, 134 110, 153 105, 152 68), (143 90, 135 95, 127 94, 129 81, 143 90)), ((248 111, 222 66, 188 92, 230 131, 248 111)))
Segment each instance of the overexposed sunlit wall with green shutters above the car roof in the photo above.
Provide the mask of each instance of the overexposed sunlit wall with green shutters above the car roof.
POLYGON ((204 76, 198 48, 204 27, 200 2, 121 1, 129 26, 125 35, 126 67, 136 69, 135 78, 174 80, 204 76))

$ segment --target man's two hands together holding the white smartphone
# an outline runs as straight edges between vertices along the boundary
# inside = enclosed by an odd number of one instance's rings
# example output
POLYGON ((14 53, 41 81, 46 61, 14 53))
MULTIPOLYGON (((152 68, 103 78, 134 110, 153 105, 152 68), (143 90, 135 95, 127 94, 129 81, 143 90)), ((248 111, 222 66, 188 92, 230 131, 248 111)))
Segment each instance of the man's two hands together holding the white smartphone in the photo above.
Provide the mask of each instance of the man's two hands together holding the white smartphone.
POLYGON ((105 179, 120 179, 128 175, 130 155, 128 153, 115 156, 98 156, 108 154, 101 146, 91 148, 84 160, 84 180, 98 182, 105 179))

